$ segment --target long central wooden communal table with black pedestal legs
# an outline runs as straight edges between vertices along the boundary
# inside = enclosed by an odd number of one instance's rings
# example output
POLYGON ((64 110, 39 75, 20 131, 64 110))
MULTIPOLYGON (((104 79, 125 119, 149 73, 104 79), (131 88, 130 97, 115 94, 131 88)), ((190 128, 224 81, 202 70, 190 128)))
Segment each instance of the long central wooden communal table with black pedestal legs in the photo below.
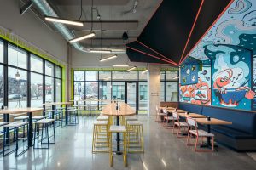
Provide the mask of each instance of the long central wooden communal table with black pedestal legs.
MULTIPOLYGON (((133 116, 136 114, 136 111, 131 108, 130 105, 127 105, 123 102, 119 102, 119 108, 116 110, 117 103, 111 103, 105 105, 102 109, 102 115, 104 116, 116 116, 116 125, 120 125, 120 116, 133 116)), ((120 153, 120 133, 117 133, 117 154, 120 153)))

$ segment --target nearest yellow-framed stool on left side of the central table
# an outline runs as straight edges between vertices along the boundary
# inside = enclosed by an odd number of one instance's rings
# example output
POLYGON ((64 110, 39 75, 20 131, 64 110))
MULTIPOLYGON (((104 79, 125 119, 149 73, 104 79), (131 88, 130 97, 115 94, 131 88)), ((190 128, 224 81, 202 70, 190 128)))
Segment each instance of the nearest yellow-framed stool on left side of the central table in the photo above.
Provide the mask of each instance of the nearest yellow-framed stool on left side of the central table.
POLYGON ((107 152, 109 148, 108 139, 108 121, 96 121, 93 125, 93 136, 92 136, 92 153, 97 152, 107 152), (102 127, 106 131, 102 132, 102 127), (97 150, 97 148, 103 148, 102 150, 97 150))

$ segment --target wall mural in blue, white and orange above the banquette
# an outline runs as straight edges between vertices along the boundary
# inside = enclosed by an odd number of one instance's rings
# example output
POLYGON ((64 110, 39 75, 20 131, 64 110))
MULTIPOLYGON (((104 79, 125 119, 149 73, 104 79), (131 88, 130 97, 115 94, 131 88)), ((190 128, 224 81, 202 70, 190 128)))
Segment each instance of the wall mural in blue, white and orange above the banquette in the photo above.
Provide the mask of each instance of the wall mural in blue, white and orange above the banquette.
POLYGON ((256 1, 236 0, 181 65, 180 101, 256 111, 255 52, 256 1), (201 71, 198 81, 183 83, 190 58, 199 60, 201 71), (201 84, 206 88, 199 92, 201 84))

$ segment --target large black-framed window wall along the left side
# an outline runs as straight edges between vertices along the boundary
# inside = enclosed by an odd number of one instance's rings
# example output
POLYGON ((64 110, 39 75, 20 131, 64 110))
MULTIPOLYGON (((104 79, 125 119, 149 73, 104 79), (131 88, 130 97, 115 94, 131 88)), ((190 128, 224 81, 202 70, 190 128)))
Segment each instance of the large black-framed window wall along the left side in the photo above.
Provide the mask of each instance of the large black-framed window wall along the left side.
POLYGON ((0 39, 0 106, 42 107, 61 101, 61 72, 61 66, 0 39))

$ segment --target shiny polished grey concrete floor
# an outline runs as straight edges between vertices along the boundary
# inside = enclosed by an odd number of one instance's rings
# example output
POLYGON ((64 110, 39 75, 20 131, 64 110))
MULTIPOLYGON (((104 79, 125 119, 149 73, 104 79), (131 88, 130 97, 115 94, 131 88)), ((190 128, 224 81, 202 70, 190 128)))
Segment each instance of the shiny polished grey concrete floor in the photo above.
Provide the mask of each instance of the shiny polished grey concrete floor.
POLYGON ((76 127, 57 127, 56 144, 50 150, 29 150, 15 158, 15 154, 0 157, 0 169, 256 169, 256 161, 246 153, 236 153, 221 147, 218 152, 195 153, 177 139, 170 129, 165 129, 154 117, 139 116, 143 122, 145 153, 129 154, 128 167, 122 156, 114 156, 109 167, 108 154, 91 154, 92 124, 95 117, 79 117, 76 127))

